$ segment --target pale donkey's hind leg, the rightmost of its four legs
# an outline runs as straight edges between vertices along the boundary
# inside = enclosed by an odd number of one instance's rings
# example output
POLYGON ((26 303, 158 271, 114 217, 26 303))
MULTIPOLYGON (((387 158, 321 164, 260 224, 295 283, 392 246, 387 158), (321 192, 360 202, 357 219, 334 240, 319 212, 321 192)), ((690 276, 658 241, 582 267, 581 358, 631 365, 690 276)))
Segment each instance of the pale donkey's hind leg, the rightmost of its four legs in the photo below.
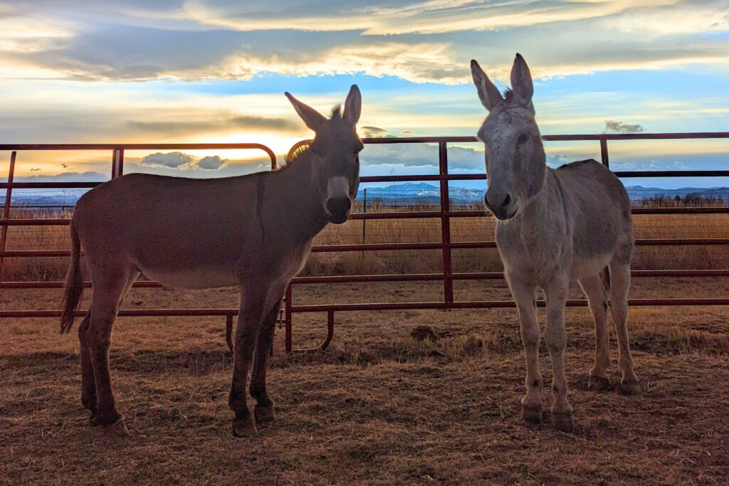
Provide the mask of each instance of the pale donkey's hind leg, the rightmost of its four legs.
POLYGON ((633 358, 628 344, 628 289, 631 286, 630 264, 611 262, 610 265, 610 308, 617 333, 617 364, 623 372, 620 388, 625 393, 640 393, 638 376, 633 370, 633 358))

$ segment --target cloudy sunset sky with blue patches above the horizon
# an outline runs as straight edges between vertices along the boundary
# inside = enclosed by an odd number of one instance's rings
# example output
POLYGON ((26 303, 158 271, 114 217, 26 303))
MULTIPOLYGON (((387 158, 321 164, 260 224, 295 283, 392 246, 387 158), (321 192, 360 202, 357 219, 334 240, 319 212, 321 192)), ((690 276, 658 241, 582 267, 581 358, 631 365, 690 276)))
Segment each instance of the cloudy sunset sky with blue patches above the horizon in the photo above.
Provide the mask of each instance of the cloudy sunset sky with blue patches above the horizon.
MULTIPOLYGON (((353 83, 361 136, 472 136, 486 111, 469 60, 504 88, 515 52, 542 134, 729 131, 729 0, 23 0, 0 1, 0 143, 259 142, 285 154, 311 132, 284 91, 327 112, 353 83)), ((729 169, 727 140, 609 147, 615 170, 729 169)), ((545 148, 550 165, 599 157, 596 142, 545 148)), ((16 175, 102 180, 110 158, 23 152, 16 175)), ((483 172, 483 146, 453 146, 450 160, 453 173, 483 172)), ((129 152, 125 170, 267 166, 251 151, 129 152)), ((362 175, 435 171, 433 146, 362 152, 362 175)))

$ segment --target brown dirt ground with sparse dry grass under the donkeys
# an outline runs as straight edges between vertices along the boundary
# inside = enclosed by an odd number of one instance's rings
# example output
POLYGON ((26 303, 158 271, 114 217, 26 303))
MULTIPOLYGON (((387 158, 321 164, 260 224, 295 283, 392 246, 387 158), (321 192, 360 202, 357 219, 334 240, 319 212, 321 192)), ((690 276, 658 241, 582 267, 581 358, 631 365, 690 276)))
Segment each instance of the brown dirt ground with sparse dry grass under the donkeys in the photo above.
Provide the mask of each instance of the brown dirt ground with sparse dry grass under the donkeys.
MULTIPOLYGON (((636 279, 631 297, 725 296, 720 279, 636 279)), ((437 298, 437 284, 299 286, 295 302, 437 298)), ((57 308, 59 291, 0 294, 2 308, 57 308)), ((458 299, 506 298, 461 282, 458 299)), ((125 308, 235 307, 235 291, 134 289, 125 308)), ((544 322, 544 311, 539 310, 544 322)), ((278 420, 230 434, 231 358, 222 318, 120 318, 112 377, 131 435, 105 436, 79 402, 75 332, 50 319, 0 321, 0 482, 7 484, 726 484, 729 308, 635 307, 640 396, 587 390, 588 310, 569 309, 566 358, 576 431, 523 423, 514 310, 338 313, 324 353, 283 350, 269 371, 278 420), (431 326, 439 338, 410 332, 431 326)), ((295 315, 295 345, 324 336, 295 315)), ((78 324, 78 323, 77 323, 78 324)), ((75 331, 74 326, 74 331, 75 331)), ((611 380, 617 385, 615 340, 611 380)), ((551 369, 542 345, 542 374, 551 369)), ((548 386, 543 391, 550 407, 548 386)))

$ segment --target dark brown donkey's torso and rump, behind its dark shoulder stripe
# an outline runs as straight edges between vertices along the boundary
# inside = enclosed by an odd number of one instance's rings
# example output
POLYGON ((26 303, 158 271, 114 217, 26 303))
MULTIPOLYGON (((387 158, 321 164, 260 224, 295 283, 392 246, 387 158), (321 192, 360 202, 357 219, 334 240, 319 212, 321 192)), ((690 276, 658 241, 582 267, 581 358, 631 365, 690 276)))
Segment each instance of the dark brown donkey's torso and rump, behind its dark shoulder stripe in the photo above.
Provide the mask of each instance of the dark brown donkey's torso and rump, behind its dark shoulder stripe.
POLYGON ((97 266, 133 267, 168 286, 235 285, 241 251, 260 245, 261 177, 121 176, 79 200, 74 228, 97 266))

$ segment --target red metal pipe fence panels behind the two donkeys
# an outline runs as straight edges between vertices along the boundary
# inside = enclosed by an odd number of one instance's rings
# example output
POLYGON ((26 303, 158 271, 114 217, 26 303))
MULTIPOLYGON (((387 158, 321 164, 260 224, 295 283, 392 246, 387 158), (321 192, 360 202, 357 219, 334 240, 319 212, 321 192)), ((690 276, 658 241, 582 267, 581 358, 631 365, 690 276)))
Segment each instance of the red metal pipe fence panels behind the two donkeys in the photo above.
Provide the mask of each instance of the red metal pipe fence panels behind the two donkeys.
MULTIPOLYGON (((601 162, 609 167, 608 141, 610 140, 655 140, 655 139, 696 139, 696 138, 729 138, 728 132, 711 133, 637 133, 637 134, 598 134, 598 135, 560 135, 544 136, 545 141, 599 141, 601 162)), ((440 219, 440 241, 426 243, 364 243, 348 245, 317 245, 313 252, 340 251, 382 251, 382 250, 440 250, 443 254, 443 268, 438 273, 397 274, 397 275, 326 275, 316 277, 296 277, 286 291, 284 305, 284 321, 286 324, 286 351, 292 350, 292 318, 295 313, 327 313, 327 337, 317 348, 326 348, 332 340, 334 332, 335 312, 362 310, 414 310, 414 309, 462 309, 487 307, 514 307, 512 301, 484 300, 457 301, 453 299, 453 281, 495 280, 504 278, 503 273, 454 273, 451 250, 464 248, 496 248, 493 240, 483 241, 451 241, 451 219, 490 216, 485 211, 452 211, 448 197, 449 181, 484 180, 486 174, 450 174, 448 173, 448 144, 475 142, 475 137, 408 137, 408 138, 365 138, 365 144, 438 144, 439 173, 416 176, 368 176, 362 177, 367 182, 399 182, 399 181, 437 181, 440 184, 439 211, 398 211, 387 213, 354 213, 352 219, 440 219), (398 281, 442 281, 443 299, 434 302, 372 302, 372 303, 332 303, 321 305, 295 305, 292 288, 305 284, 327 283, 370 283, 398 281)), ((303 141, 301 144, 307 143, 303 141)), ((29 288, 61 288, 62 282, 7 282, 2 280, 2 260, 11 257, 43 257, 69 256, 69 251, 7 251, 5 242, 10 226, 68 224, 67 219, 12 219, 9 205, 12 188, 89 188, 101 183, 14 183, 16 152, 22 150, 100 150, 113 151, 112 177, 123 173, 124 150, 130 149, 262 149, 271 159, 272 168, 276 167, 276 157, 268 147, 260 144, 136 144, 136 145, 0 145, 0 151, 12 151, 7 183, 0 183, 0 189, 7 189, 3 218, 0 219, 2 236, 0 238, 0 289, 29 288)), ((727 177, 729 170, 717 171, 618 171, 621 178, 635 177, 727 177)), ((729 207, 680 207, 680 208, 634 208, 634 214, 706 214, 729 213, 729 207)), ((637 246, 694 246, 694 245, 729 245, 729 238, 660 238, 639 239, 637 246)), ((729 276, 729 270, 634 270, 634 277, 718 277, 729 276)), ((87 285, 90 283, 87 282, 87 285)), ((138 281, 136 287, 158 287, 156 282, 138 281)), ((543 302, 538 302, 543 305, 543 302)), ((569 306, 585 306, 585 300, 570 300, 569 306)), ((729 305, 729 298, 692 298, 692 299, 631 299, 630 305, 729 305)), ((120 315, 224 315, 227 324, 227 340, 230 345, 230 329, 233 316, 238 309, 158 309, 158 310, 120 310, 120 315)), ((79 311, 79 315, 83 313, 79 311)), ((1 317, 57 317, 60 311, 55 310, 0 310, 1 317)))

